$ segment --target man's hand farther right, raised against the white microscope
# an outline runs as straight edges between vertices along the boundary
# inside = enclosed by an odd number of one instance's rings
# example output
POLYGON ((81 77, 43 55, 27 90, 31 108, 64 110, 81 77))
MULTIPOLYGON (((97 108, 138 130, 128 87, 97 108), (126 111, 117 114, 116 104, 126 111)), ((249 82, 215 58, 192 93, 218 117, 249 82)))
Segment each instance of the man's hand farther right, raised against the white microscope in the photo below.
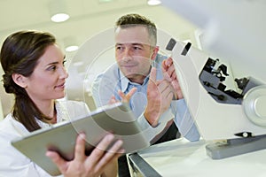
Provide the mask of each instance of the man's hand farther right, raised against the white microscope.
POLYGON ((162 72, 163 72, 164 78, 167 81, 169 81, 172 85, 173 92, 174 92, 174 98, 175 99, 182 99, 184 96, 183 96, 182 90, 180 88, 178 79, 176 77, 176 69, 175 69, 175 65, 173 63, 173 59, 167 58, 167 59, 163 60, 161 66, 162 66, 162 72))

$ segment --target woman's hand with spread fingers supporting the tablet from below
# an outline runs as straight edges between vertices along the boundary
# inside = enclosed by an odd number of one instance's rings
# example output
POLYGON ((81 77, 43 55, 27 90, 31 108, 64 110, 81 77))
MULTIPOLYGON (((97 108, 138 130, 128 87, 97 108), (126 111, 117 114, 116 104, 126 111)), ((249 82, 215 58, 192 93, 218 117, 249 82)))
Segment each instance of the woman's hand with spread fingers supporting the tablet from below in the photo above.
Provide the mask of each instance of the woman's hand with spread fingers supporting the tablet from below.
POLYGON ((108 170, 107 176, 116 176, 117 158, 125 151, 121 149, 121 145, 121 140, 114 142, 114 135, 106 135, 92 150, 90 156, 86 156, 85 135, 80 134, 76 139, 73 160, 66 161, 59 156, 59 153, 51 150, 47 151, 46 156, 51 158, 65 177, 98 177, 105 173, 106 168, 108 170), (113 145, 110 147, 111 144, 113 145), (112 169, 110 166, 114 167, 113 172, 110 172, 112 169))

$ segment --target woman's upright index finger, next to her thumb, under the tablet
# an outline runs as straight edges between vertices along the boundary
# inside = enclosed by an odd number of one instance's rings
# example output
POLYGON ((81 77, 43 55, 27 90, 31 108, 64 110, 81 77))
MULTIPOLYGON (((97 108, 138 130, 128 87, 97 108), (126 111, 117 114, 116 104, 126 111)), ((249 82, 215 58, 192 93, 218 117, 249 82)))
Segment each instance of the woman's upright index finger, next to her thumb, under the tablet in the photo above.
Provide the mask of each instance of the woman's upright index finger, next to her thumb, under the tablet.
POLYGON ((80 134, 77 136, 74 146, 74 160, 84 161, 85 156, 85 134, 80 134))

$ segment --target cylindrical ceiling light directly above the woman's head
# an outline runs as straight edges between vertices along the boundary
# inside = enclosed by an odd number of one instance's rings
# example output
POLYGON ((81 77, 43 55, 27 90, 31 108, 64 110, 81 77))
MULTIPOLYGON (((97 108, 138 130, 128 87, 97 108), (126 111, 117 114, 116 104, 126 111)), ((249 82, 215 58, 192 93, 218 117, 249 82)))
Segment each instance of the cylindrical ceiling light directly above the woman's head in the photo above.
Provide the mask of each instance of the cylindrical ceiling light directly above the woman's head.
POLYGON ((63 0, 53 0, 49 4, 51 20, 54 22, 63 22, 69 19, 66 10, 66 4, 63 0))

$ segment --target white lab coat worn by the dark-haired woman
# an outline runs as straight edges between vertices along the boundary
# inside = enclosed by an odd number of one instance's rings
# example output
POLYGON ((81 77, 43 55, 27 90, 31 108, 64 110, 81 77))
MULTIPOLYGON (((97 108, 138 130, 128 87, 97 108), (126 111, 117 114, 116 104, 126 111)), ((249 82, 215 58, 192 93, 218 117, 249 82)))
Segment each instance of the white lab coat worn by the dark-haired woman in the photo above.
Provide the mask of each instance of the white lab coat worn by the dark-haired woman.
MULTIPOLYGON (((87 104, 76 101, 56 101, 57 121, 79 118, 88 114, 87 104)), ((41 127, 49 124, 38 121, 41 127)), ((46 177, 51 176, 41 167, 35 165, 29 158, 11 145, 14 138, 30 134, 26 127, 8 114, 0 121, 0 177, 46 177)))

